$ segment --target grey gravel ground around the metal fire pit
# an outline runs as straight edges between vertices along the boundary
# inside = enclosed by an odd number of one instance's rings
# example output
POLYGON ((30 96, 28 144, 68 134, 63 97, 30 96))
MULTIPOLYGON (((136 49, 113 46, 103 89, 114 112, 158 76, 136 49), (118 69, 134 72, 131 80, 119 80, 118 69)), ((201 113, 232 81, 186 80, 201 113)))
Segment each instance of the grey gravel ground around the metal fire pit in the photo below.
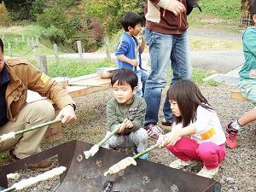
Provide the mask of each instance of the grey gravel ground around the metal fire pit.
MULTIPOLYGON (((207 97, 212 108, 218 113, 219 119, 225 127, 231 119, 240 117, 248 109, 253 108, 250 103, 239 102, 230 97, 230 90, 235 87, 226 84, 210 86, 200 84, 201 91, 207 97)), ((110 90, 104 90, 82 96, 76 99, 78 105, 78 120, 63 128, 63 138, 52 143, 44 143, 43 148, 50 148, 59 143, 77 139, 86 143, 97 143, 104 137, 107 128, 105 107, 111 98, 110 90)), ((160 119, 162 112, 160 112, 160 119)), ((150 140, 149 145, 153 144, 150 140)), ((218 174, 214 177, 222 184, 222 191, 226 192, 255 192, 256 191, 256 136, 255 123, 247 125, 240 131, 240 146, 236 149, 227 149, 227 156, 224 163, 220 165, 218 174)), ((150 161, 168 166, 175 157, 166 149, 155 149, 149 154, 150 161)), ((201 166, 187 167, 185 172, 198 172, 201 166)), ((21 172, 24 175, 32 175, 29 170, 21 172)), ((24 191, 54 191, 54 185, 58 180, 44 182, 36 187, 24 191), (38 190, 43 189, 43 190, 38 190)))

